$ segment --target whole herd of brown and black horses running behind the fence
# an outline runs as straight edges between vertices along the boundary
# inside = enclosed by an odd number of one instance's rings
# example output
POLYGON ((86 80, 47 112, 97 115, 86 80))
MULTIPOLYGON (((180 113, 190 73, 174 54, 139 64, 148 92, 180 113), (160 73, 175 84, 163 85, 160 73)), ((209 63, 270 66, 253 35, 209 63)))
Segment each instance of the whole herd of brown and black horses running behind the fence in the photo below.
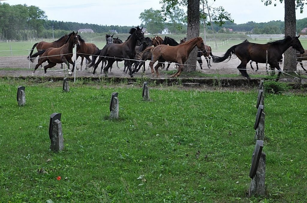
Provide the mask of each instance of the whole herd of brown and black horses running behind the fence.
MULTIPOLYGON (((45 61, 48 62, 48 65, 44 66, 45 74, 48 68, 52 68, 56 64, 62 63, 65 63, 68 66, 69 73, 69 64, 72 64, 73 72, 75 68, 75 63, 72 61, 72 50, 74 46, 76 46, 77 52, 76 59, 81 57, 81 70, 83 60, 86 58, 88 61, 86 68, 93 67, 93 75, 95 74, 95 71, 100 63, 102 63, 100 73, 102 74, 103 71, 105 76, 107 76, 109 69, 111 71, 115 61, 124 61, 124 72, 129 70, 130 77, 133 77, 133 73, 138 72, 142 66, 143 71, 145 72, 145 61, 149 60, 149 66, 153 75, 154 72, 156 72, 157 77, 159 76, 158 68, 164 68, 165 62, 168 64, 166 70, 168 70, 169 65, 174 62, 178 67, 177 72, 170 77, 178 77, 183 70, 183 65, 187 61, 189 54, 195 47, 198 49, 197 61, 201 69, 202 56, 205 57, 208 68, 210 68, 211 57, 214 63, 219 63, 225 60, 230 60, 231 57, 235 55, 241 61, 237 68, 243 76, 247 77, 247 79, 250 79, 246 71, 247 63, 250 61, 255 61, 258 70, 258 63, 266 63, 266 51, 268 53, 267 62, 271 69, 276 68, 279 71, 279 78, 281 74, 279 61, 282 60, 282 54, 289 47, 293 47, 297 50, 297 63, 300 63, 301 67, 306 71, 301 61, 307 60, 307 53, 305 53, 307 50, 304 50, 302 47, 301 42, 298 39, 299 36, 286 36, 284 39, 268 42, 266 44, 251 43, 245 40, 240 44, 232 46, 223 56, 218 57, 212 54, 211 47, 205 45, 201 37, 196 37, 189 40, 184 38, 180 40, 180 43, 168 36, 165 36, 164 39, 162 39, 160 36, 149 38, 144 37, 142 28, 139 26, 131 28, 129 34, 130 36, 124 42, 118 37, 113 38, 113 35, 107 34, 107 44, 101 50, 95 44, 85 42, 84 39, 78 35, 78 32, 74 31, 68 35, 64 35, 54 42, 38 42, 33 45, 28 56, 29 60, 32 62, 37 56, 39 56, 37 65, 35 66, 32 74, 34 74, 37 68, 45 61), (33 54, 35 47, 38 52, 33 54), (158 63, 153 68, 156 61, 158 61, 158 63), (133 65, 134 69, 132 70, 133 65)), ((119 68, 118 64, 117 67, 119 68)))

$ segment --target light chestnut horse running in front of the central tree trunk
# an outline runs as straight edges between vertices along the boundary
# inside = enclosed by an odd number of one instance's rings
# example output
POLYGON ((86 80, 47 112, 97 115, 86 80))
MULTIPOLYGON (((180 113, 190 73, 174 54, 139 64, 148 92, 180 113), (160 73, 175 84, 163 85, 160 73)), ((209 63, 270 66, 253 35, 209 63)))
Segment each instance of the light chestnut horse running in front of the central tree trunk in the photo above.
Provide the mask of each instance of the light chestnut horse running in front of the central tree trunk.
POLYGON ((151 68, 151 73, 154 74, 153 64, 158 61, 158 64, 155 66, 157 77, 159 77, 158 68, 162 65, 161 62, 169 61, 175 62, 179 65, 178 71, 171 75, 171 78, 180 76, 183 64, 187 61, 189 54, 197 46, 204 53, 206 52, 204 41, 201 37, 196 37, 188 40, 185 43, 179 44, 177 46, 168 46, 161 44, 156 46, 152 50, 151 61, 149 63, 151 68))

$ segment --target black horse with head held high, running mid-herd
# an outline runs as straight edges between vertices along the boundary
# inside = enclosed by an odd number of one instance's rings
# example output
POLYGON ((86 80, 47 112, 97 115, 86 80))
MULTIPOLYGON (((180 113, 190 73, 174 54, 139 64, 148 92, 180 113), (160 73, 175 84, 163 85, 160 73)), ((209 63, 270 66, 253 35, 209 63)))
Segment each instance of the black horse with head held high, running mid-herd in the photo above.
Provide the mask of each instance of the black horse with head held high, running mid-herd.
MULTIPOLYGON (((129 37, 128 40, 126 40, 122 44, 106 44, 106 46, 103 47, 103 49, 99 52, 95 53, 95 56, 93 56, 93 60, 91 62, 90 67, 94 66, 94 71, 93 75, 95 74, 95 70, 99 63, 107 57, 108 64, 107 66, 103 69, 103 72, 105 73, 105 76, 107 76, 107 71, 108 69, 112 66, 112 64, 115 61, 123 61, 124 59, 134 59, 135 56, 135 45, 137 40, 144 40, 144 33, 142 31, 142 28, 136 27, 136 28, 131 28, 129 33, 131 36, 129 37), (99 59, 95 63, 95 59, 97 58, 97 55, 99 54, 99 59)), ((126 63, 128 65, 128 69, 130 72, 130 77, 133 78, 132 75, 132 69, 131 69, 131 64, 130 60, 126 60, 126 63)))

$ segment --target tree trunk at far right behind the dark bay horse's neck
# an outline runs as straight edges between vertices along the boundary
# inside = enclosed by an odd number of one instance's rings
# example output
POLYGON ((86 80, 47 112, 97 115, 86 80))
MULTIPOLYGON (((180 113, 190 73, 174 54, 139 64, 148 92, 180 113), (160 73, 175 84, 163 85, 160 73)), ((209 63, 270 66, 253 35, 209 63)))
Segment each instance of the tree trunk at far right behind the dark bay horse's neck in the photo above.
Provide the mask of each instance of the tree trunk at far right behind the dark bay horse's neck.
MULTIPOLYGON (((296 17, 295 1, 285 0, 285 36, 295 37, 296 17)), ((296 50, 290 47, 285 51, 284 70, 296 71, 296 50)))

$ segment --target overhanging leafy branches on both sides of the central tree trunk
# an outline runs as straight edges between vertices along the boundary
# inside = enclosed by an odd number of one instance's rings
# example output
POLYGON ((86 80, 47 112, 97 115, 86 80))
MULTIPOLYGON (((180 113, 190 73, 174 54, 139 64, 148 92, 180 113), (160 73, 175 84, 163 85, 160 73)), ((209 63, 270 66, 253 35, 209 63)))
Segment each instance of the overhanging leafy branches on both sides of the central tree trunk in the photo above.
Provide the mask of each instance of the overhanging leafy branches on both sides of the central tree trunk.
MULTIPOLYGON (((212 22, 214 22, 215 24, 219 26, 222 26, 223 24, 225 24, 226 21, 234 22, 234 20, 231 19, 230 13, 225 11, 225 9, 222 6, 217 7, 217 8, 212 7, 212 6, 207 7, 207 3, 208 3, 207 0, 200 1, 200 5, 202 5, 203 3, 205 5, 205 8, 200 9, 200 19, 202 20, 205 19, 205 21, 207 22, 206 23, 207 25, 211 25, 209 17, 211 17, 212 22)), ((169 16, 170 13, 174 11, 176 6, 177 7, 178 6, 187 7, 188 1, 187 0, 161 0, 160 4, 162 4, 161 13, 163 17, 166 18, 169 16)))

